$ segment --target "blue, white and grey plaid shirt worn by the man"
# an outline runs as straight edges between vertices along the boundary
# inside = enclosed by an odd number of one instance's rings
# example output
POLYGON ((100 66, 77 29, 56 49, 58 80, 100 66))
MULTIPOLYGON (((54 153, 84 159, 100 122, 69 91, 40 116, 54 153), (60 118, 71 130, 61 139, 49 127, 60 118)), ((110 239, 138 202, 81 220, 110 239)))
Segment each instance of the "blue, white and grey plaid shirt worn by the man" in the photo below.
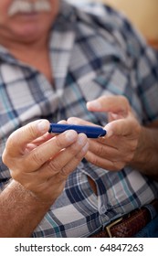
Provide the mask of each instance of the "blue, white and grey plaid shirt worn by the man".
MULTIPOLYGON (((10 133, 39 118, 58 122, 78 116, 105 125, 106 114, 86 108, 87 101, 103 94, 125 95, 142 124, 158 119, 156 52, 123 16, 102 8, 104 15, 97 16, 61 4, 49 41, 54 86, 37 69, 0 48, 1 155, 10 133)), ((2 190, 10 173, 0 161, 2 190)), ((132 167, 109 172, 84 159, 32 236, 88 237, 154 197, 158 183, 132 167), (96 183, 97 196, 88 176, 96 183)))

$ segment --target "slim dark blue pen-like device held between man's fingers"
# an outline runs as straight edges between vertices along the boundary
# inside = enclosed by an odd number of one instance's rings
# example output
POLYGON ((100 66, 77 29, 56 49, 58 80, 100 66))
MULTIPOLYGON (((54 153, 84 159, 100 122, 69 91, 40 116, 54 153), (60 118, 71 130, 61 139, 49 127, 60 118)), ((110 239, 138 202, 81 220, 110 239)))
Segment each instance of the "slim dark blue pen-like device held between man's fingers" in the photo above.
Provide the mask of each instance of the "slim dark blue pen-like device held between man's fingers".
POLYGON ((88 138, 99 138, 106 135, 106 130, 100 126, 76 125, 63 123, 50 123, 48 133, 63 133, 67 130, 75 130, 77 133, 85 133, 88 138))

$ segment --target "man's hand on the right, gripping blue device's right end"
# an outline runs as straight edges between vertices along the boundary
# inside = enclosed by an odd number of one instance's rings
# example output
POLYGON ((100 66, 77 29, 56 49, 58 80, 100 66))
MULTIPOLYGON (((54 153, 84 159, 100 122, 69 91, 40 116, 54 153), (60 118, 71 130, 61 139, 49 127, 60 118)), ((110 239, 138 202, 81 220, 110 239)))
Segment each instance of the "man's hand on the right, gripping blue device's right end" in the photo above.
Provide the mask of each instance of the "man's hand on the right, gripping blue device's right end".
MULTIPOLYGON (((137 150, 141 125, 132 113, 129 101, 123 96, 101 96, 87 104, 91 112, 107 112, 109 121, 105 137, 90 139, 86 159, 93 165, 117 171, 132 162, 137 150)), ((90 124, 77 118, 68 123, 90 124)))

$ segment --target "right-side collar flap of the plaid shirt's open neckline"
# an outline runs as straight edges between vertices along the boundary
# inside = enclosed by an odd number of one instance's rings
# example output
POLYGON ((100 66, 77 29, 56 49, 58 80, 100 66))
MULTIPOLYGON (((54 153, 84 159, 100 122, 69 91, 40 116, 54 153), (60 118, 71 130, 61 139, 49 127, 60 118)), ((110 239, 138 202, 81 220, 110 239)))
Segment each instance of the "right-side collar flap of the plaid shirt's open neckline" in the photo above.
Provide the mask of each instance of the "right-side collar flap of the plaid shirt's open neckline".
POLYGON ((52 33, 50 34, 49 49, 55 86, 62 88, 68 74, 69 60, 75 41, 75 12, 74 7, 60 1, 60 11, 52 33))

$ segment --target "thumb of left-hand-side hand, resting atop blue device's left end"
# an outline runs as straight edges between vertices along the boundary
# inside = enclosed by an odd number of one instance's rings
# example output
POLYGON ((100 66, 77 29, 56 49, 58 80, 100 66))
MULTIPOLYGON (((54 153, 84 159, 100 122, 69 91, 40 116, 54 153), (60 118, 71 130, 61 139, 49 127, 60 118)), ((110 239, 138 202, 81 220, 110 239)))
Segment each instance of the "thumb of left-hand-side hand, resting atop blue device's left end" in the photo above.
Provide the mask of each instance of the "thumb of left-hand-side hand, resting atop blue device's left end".
POLYGON ((12 157, 23 155, 26 144, 47 133, 48 129, 49 123, 47 120, 38 120, 26 124, 9 136, 5 146, 5 153, 7 152, 12 157))

